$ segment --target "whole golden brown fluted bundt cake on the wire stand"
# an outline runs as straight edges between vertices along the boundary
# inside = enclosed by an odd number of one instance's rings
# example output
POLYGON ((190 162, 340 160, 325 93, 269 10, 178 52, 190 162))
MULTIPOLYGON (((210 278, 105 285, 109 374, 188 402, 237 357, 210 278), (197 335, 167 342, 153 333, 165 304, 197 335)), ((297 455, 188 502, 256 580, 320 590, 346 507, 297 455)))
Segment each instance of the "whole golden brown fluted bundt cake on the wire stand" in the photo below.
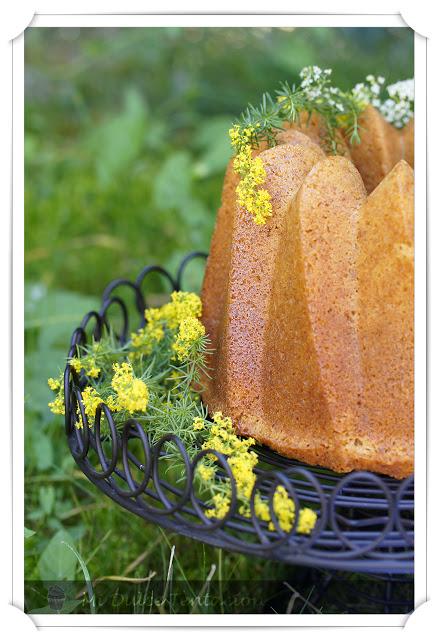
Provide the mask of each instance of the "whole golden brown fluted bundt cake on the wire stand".
POLYGON ((413 470, 412 125, 368 107, 361 126, 343 155, 317 144, 317 121, 253 152, 264 225, 238 204, 229 164, 202 288, 203 400, 288 457, 401 478, 413 470))

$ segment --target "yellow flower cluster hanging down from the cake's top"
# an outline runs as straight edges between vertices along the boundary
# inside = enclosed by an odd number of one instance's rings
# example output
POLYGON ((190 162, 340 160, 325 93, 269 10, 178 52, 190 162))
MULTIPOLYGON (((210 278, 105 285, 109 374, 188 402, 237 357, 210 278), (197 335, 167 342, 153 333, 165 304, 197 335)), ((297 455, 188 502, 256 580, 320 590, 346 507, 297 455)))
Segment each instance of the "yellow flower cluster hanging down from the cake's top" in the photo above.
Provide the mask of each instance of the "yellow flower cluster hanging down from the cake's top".
POLYGON ((238 204, 253 216, 256 224, 263 225, 272 215, 272 204, 269 192, 258 188, 266 180, 266 171, 261 158, 252 157, 253 133, 254 127, 241 128, 240 125, 229 130, 236 151, 234 170, 241 177, 236 189, 238 204))

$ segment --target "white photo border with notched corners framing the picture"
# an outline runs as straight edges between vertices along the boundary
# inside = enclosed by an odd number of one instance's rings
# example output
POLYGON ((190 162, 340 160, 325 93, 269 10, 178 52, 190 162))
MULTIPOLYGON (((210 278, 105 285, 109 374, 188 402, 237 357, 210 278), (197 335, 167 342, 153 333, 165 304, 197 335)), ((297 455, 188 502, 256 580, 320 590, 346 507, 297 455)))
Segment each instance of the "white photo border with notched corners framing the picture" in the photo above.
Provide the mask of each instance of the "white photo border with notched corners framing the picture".
MULTIPOLYGON (((36 15, 39 27, 407 27, 389 15, 36 15)), ((415 34, 415 605, 427 599, 426 549, 426 39, 415 34)), ((24 34, 13 43, 13 604, 24 608, 24 34)), ((408 614, 34 615, 51 626, 403 626, 408 614), (257 622, 255 622, 257 620, 257 622)))

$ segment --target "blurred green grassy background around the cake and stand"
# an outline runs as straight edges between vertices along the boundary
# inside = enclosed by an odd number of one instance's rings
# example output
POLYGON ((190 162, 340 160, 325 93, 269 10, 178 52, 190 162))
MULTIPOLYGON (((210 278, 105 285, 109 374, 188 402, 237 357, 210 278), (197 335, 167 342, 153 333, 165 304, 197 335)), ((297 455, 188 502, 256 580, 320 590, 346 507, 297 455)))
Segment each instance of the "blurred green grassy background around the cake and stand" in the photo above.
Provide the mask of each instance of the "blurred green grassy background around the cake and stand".
MULTIPOLYGON (((133 278, 153 262, 175 269, 185 253, 208 250, 231 122, 248 102, 258 103, 280 81, 292 83, 310 64, 331 67, 342 88, 369 73, 387 82, 410 78, 413 32, 27 29, 28 580, 52 579, 50 545, 60 531, 92 579, 166 572, 172 545, 188 581, 203 581, 212 563, 226 580, 291 575, 292 569, 222 555, 122 513, 74 468, 62 420, 47 408, 46 380, 63 367, 72 329, 110 280, 133 278)), ((197 288, 201 275, 189 285, 197 288)), ((81 563, 68 554, 63 562, 69 579, 81 578, 81 563)))

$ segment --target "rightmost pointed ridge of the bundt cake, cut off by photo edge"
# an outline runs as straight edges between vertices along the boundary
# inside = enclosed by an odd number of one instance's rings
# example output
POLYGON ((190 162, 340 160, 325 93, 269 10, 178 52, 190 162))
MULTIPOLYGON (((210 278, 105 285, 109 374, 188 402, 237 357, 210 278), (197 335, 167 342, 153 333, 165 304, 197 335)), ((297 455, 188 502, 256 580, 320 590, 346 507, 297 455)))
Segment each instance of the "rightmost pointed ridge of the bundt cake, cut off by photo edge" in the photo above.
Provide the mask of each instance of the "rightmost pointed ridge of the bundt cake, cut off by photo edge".
MULTIPOLYGON (((368 197, 358 231, 363 403, 379 470, 405 476, 414 456, 414 173, 401 160, 368 197)), ((365 446, 365 458, 370 460, 365 446)))

